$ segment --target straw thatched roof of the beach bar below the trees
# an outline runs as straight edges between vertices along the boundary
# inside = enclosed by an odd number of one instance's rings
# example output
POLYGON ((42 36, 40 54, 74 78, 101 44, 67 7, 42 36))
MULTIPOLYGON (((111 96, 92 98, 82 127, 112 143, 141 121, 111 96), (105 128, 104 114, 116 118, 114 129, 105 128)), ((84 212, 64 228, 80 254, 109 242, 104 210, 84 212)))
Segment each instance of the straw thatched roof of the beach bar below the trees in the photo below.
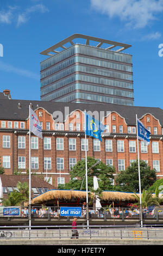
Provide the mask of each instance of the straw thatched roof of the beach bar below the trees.
MULTIPOLYGON (((102 200, 122 200, 122 201, 136 201, 133 197, 134 193, 118 192, 118 191, 103 191, 102 200)), ((46 193, 40 194, 39 196, 31 200, 31 204, 38 204, 47 202, 53 199, 71 200, 72 198, 86 199, 86 191, 80 190, 49 190, 46 193)))

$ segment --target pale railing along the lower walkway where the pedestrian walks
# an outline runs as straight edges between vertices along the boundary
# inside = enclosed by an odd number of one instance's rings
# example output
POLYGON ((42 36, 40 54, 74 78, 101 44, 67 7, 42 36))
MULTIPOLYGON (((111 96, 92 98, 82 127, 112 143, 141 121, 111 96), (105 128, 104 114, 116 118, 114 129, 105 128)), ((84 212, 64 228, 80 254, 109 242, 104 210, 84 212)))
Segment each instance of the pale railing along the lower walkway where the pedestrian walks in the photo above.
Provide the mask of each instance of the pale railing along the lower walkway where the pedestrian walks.
MULTIPOLYGON (((43 226, 17 227, 17 229, 0 229, 0 244, 2 239, 71 239, 72 229, 70 226, 43 226)), ((141 227, 116 227, 109 225, 77 226, 79 239, 131 239, 131 240, 162 240, 162 228, 141 228, 141 227)))

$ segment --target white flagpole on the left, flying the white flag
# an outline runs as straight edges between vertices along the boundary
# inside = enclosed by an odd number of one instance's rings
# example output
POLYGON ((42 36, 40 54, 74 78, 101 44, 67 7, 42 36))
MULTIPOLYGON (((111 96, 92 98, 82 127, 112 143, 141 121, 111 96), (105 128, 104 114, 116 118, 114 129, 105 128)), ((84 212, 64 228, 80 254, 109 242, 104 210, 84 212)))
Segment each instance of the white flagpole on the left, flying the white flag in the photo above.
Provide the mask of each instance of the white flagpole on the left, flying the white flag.
POLYGON ((29 105, 29 229, 31 227, 31 173, 30 173, 30 105, 29 105))

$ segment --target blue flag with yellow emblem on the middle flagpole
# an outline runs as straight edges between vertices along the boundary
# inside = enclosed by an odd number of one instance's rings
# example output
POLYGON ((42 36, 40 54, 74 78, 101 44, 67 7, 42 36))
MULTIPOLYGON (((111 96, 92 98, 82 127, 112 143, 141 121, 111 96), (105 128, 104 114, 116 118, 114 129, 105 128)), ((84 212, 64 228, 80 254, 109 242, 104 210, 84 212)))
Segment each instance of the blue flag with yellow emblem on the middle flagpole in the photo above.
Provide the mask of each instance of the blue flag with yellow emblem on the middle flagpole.
POLYGON ((85 112, 85 134, 102 141, 101 133, 106 126, 85 112))

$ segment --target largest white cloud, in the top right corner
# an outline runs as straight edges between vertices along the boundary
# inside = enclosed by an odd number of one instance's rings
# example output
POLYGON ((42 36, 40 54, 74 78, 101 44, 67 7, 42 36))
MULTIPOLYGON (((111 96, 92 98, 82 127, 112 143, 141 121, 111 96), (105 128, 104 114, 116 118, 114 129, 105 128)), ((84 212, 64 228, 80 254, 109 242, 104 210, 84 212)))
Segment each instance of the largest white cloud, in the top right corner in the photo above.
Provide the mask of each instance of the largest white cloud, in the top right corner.
POLYGON ((118 17, 132 28, 143 28, 163 11, 162 0, 91 0, 92 8, 118 17))

